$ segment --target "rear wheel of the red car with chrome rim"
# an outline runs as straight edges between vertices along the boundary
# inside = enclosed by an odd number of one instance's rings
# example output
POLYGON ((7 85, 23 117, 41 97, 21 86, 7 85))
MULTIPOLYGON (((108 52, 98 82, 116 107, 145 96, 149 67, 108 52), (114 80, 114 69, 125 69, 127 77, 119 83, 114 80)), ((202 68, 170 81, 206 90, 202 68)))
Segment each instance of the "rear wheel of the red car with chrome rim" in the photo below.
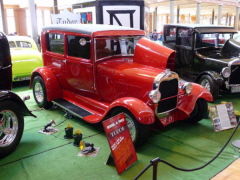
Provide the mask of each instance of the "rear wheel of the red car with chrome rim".
POLYGON ((33 79, 33 96, 38 107, 49 109, 52 106, 52 102, 47 101, 46 86, 40 76, 33 79))

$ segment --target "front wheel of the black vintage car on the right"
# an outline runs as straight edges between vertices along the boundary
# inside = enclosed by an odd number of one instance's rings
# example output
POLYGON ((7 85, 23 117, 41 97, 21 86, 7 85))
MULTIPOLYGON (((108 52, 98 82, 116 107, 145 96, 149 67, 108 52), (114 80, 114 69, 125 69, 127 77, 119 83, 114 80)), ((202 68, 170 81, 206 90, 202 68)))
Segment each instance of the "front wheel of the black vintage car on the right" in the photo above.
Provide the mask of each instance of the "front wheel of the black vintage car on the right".
POLYGON ((203 75, 200 80, 199 84, 205 87, 213 96, 213 100, 215 100, 219 95, 219 85, 211 78, 209 75, 203 75))

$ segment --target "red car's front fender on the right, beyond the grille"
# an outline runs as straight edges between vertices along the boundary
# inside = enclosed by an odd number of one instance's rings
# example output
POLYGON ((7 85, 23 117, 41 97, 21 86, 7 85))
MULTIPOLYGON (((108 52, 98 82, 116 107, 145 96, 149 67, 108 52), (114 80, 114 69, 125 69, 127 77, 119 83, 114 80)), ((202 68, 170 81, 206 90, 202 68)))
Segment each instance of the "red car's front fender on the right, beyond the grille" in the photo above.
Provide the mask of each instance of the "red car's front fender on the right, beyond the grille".
POLYGON ((184 95, 183 98, 180 98, 178 109, 190 115, 199 98, 203 98, 206 101, 213 101, 212 94, 206 88, 199 84, 192 83, 192 93, 188 96, 184 95))

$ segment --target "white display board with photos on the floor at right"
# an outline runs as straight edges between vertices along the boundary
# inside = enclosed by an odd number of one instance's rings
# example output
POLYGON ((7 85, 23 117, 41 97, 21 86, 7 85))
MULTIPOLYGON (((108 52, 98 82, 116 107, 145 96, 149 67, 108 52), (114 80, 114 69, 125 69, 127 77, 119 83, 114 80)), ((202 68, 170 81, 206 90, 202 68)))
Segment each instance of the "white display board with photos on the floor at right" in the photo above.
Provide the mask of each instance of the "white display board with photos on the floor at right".
POLYGON ((210 106, 209 112, 216 132, 233 128, 238 123, 231 102, 210 106))

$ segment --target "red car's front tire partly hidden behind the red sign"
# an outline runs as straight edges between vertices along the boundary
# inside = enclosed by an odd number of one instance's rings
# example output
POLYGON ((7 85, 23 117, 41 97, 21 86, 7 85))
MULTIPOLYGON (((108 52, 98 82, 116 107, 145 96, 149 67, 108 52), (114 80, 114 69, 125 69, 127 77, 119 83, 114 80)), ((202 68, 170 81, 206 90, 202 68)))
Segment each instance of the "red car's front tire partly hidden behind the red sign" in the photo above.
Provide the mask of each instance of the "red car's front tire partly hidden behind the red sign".
POLYGON ((117 108, 113 111, 112 116, 124 113, 129 132, 135 148, 142 146, 149 137, 149 126, 139 123, 136 118, 128 110, 117 108))

